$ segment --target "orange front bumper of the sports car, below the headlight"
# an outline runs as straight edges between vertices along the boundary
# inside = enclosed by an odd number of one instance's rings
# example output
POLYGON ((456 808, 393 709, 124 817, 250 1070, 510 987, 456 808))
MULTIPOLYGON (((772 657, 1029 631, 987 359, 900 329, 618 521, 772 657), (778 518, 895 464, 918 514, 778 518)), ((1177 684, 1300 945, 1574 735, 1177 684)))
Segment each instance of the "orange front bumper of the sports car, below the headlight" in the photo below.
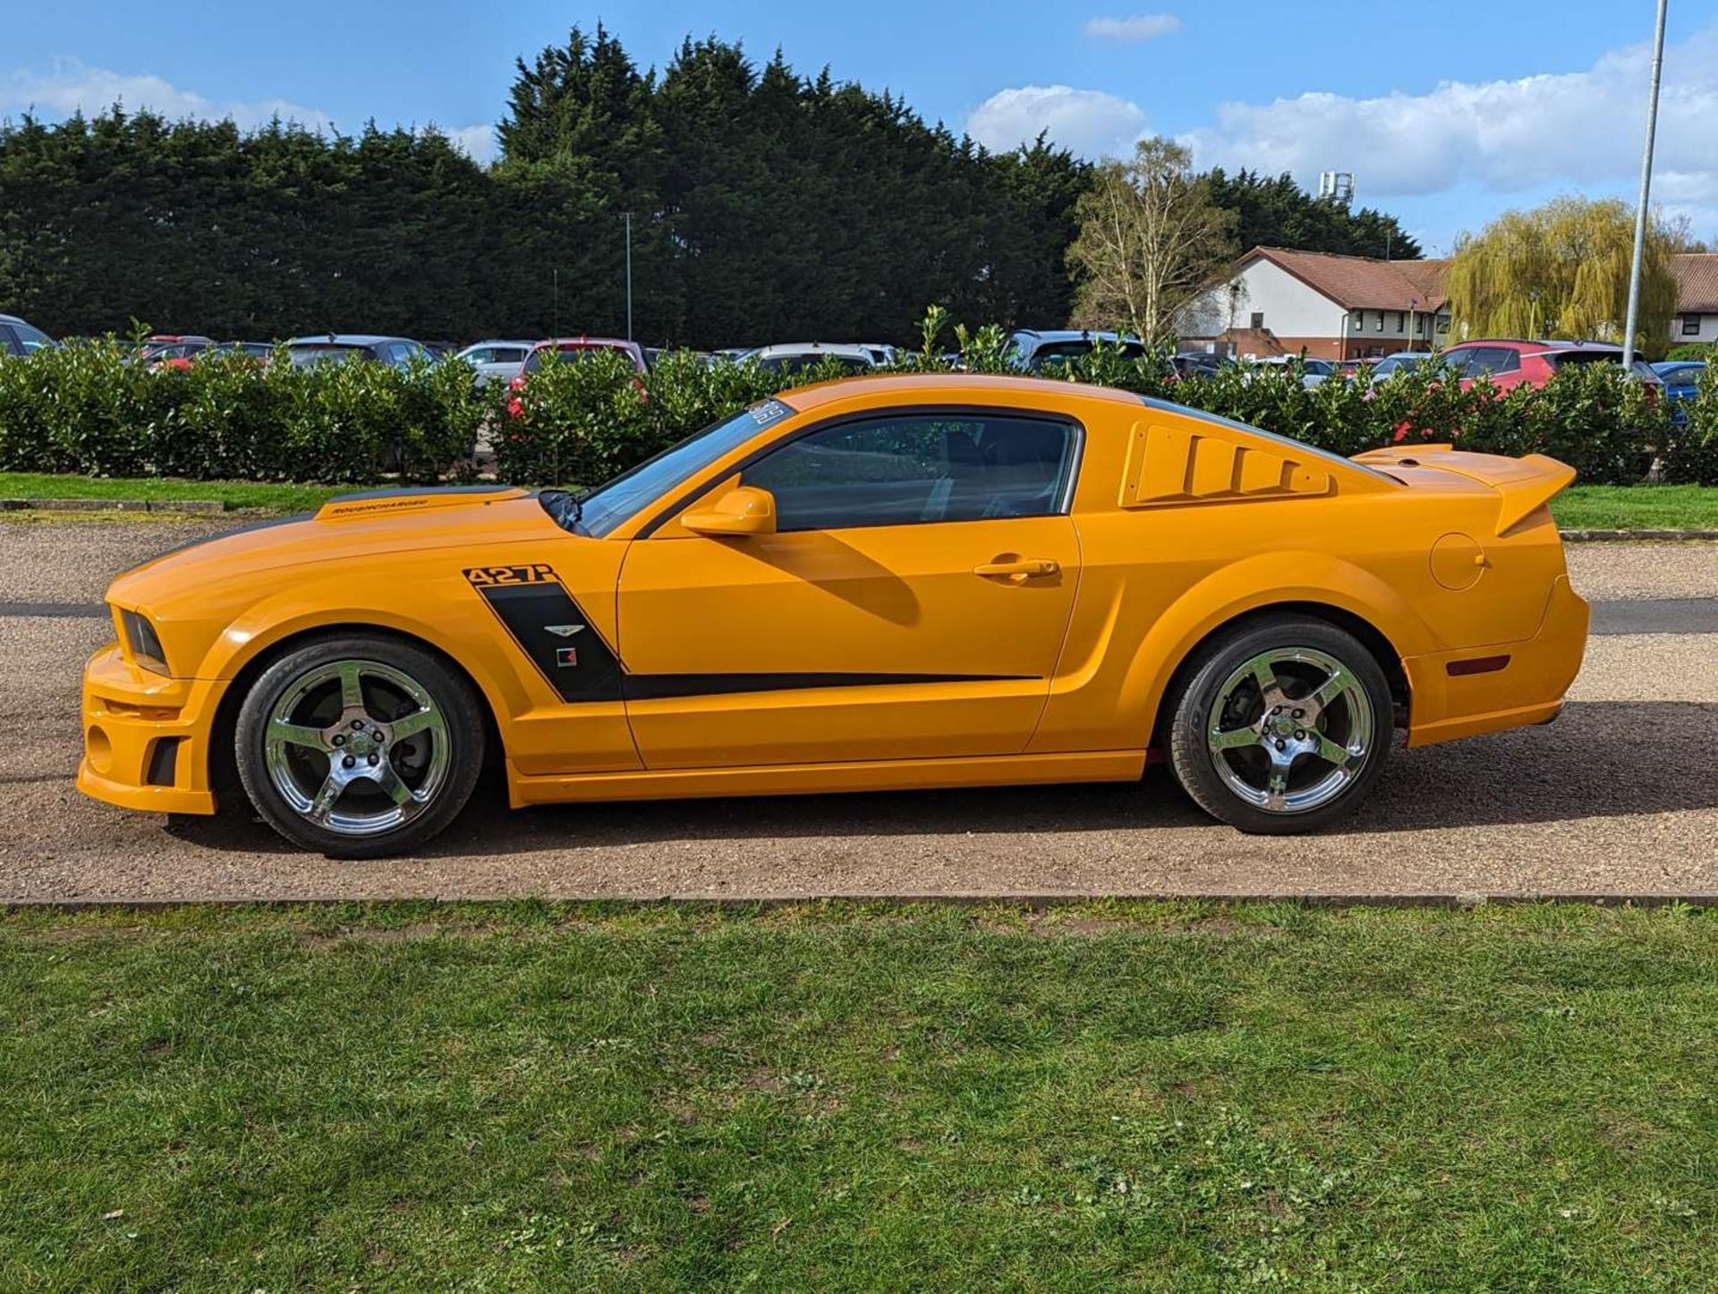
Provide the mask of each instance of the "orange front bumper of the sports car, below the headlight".
POLYGON ((108 643, 84 665, 84 758, 77 789, 124 809, 215 813, 210 732, 216 689, 168 679, 108 643))

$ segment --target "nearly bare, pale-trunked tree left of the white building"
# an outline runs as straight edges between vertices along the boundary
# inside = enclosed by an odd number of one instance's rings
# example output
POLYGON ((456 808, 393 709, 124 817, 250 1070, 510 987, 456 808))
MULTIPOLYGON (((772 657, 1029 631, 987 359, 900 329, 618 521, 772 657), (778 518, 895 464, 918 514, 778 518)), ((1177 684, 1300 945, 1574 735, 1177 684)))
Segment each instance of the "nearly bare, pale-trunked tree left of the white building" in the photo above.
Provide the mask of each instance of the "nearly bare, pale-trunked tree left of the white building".
POLYGON ((1074 325, 1148 344, 1173 339, 1177 313, 1235 251, 1235 213, 1211 201, 1192 155, 1168 139, 1141 139, 1129 160, 1098 167, 1075 213, 1074 325))

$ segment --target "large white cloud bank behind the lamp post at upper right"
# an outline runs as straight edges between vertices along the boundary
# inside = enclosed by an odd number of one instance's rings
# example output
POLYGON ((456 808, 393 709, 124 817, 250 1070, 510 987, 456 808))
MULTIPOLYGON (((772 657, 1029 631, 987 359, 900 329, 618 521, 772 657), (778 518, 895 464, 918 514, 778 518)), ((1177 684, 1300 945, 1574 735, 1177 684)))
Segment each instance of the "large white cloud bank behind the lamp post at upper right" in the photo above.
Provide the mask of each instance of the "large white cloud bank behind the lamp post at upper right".
MULTIPOLYGON (((1613 50, 1581 72, 1519 81, 1445 81, 1424 95, 1349 98, 1314 91, 1223 103, 1182 137, 1199 165, 1352 170, 1362 199, 1477 182, 1496 194, 1603 186, 1639 172, 1651 50, 1613 50)), ((1666 50, 1658 119, 1663 196, 1718 194, 1718 27, 1666 50)))

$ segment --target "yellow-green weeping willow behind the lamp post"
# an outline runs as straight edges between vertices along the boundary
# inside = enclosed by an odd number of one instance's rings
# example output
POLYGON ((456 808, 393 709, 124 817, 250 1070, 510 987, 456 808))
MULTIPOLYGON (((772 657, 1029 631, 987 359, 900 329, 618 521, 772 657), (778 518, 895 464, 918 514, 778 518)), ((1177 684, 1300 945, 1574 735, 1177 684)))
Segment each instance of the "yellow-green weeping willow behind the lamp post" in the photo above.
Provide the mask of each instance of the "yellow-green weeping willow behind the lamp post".
MULTIPOLYGON (((1672 230, 1654 218, 1636 335, 1649 354, 1663 351, 1677 313, 1673 251, 1672 230)), ((1618 199, 1557 198, 1507 211, 1455 249, 1445 292, 1457 333, 1622 340, 1632 256, 1634 213, 1618 199)))

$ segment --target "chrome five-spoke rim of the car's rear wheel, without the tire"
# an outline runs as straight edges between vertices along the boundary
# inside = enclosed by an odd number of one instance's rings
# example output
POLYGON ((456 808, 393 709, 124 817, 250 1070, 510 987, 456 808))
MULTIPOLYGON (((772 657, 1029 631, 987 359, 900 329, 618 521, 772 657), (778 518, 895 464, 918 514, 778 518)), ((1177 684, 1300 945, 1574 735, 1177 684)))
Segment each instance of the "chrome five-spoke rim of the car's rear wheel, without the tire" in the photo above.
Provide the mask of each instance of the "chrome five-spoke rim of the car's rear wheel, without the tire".
POLYGON ((1240 799, 1306 813, 1342 794, 1373 744, 1373 705, 1328 651, 1285 646, 1242 662, 1218 687, 1211 765, 1240 799))

